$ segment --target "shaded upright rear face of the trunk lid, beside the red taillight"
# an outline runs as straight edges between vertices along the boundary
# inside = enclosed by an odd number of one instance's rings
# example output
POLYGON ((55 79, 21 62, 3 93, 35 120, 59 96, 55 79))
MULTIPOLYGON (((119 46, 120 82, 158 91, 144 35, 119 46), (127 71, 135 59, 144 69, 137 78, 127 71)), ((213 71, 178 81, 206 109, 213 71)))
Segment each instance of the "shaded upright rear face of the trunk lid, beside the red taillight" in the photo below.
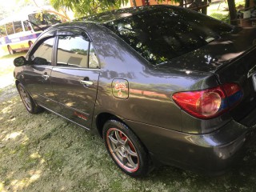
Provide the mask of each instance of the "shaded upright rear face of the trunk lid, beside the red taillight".
POLYGON ((221 84, 236 82, 242 88, 242 102, 230 110, 231 116, 240 122, 256 107, 256 48, 246 51, 215 74, 221 84))

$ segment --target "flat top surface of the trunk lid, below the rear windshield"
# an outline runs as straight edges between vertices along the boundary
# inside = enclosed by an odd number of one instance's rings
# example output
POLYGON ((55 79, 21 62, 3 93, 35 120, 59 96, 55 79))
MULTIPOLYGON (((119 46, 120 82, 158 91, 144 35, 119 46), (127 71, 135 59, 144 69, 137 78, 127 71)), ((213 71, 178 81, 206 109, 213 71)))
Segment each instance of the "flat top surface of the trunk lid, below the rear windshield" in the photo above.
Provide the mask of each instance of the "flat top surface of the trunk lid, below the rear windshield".
POLYGON ((214 73, 249 52, 255 43, 256 29, 242 29, 158 67, 214 73))

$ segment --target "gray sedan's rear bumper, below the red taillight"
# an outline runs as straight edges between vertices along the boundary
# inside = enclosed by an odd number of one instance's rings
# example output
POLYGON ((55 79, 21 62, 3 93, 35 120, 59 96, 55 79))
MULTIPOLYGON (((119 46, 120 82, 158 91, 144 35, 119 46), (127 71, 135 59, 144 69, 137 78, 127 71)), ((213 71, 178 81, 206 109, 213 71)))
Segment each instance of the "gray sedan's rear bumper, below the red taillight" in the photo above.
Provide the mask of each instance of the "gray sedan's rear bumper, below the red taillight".
POLYGON ((222 174, 242 157, 254 129, 230 121, 210 134, 186 134, 126 121, 155 162, 195 170, 204 174, 222 174))

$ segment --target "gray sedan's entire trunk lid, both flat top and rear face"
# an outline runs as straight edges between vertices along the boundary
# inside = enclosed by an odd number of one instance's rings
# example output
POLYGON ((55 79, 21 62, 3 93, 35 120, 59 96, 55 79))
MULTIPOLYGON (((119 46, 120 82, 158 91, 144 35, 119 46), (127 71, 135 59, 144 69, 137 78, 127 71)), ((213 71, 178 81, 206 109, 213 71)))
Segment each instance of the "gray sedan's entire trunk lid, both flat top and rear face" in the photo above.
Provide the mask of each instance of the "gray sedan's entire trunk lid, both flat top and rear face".
POLYGON ((242 101, 230 109, 238 122, 256 107, 256 29, 243 29, 229 38, 221 38, 184 57, 159 67, 211 72, 220 84, 234 82, 242 89, 242 101), (255 86, 254 86, 255 84, 255 86))

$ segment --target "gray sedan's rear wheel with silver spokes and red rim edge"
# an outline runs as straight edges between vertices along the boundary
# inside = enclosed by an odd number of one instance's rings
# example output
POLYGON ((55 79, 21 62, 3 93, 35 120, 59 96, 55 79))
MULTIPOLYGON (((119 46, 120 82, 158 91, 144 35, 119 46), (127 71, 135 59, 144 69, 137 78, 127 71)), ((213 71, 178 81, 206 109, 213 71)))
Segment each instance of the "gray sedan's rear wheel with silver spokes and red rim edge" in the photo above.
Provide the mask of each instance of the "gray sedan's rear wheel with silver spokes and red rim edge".
POLYGON ((103 127, 106 149, 115 164, 132 177, 149 172, 149 156, 137 136, 122 122, 109 120, 103 127))

